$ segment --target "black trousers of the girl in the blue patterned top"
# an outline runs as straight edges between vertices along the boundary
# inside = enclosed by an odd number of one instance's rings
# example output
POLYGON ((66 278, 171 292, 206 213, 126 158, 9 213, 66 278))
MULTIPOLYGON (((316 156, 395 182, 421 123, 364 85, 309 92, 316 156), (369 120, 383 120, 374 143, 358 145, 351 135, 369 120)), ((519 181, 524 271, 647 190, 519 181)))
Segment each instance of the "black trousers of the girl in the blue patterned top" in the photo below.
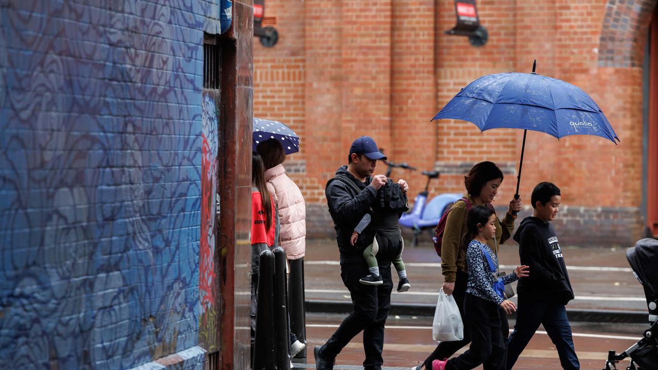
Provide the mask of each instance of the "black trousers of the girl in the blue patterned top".
POLYGON ((503 369, 505 340, 500 329, 498 305, 467 294, 464 309, 466 327, 470 332, 470 348, 459 357, 449 359, 445 369, 474 369, 482 363, 485 369, 503 369))

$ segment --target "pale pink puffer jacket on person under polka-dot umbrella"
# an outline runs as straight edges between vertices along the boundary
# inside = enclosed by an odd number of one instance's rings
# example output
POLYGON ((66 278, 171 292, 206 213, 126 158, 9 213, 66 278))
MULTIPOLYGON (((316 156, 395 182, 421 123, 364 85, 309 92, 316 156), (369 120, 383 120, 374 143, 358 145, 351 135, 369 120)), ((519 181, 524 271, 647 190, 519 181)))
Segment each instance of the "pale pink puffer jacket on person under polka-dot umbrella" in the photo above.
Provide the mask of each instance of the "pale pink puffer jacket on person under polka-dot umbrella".
POLYGON ((283 165, 265 171, 267 190, 274 198, 281 223, 281 246, 288 259, 304 257, 306 251, 306 203, 299 187, 286 175, 283 165))

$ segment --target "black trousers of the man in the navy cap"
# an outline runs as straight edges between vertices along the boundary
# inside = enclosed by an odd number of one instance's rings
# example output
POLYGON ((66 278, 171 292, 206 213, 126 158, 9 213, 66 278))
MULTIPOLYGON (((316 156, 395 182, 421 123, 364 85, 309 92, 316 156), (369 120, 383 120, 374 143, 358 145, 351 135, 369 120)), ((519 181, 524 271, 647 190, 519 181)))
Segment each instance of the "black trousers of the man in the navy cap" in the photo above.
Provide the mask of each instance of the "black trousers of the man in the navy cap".
POLYGON ((322 346, 320 355, 331 361, 349 343, 354 336, 363 330, 363 350, 365 351, 365 370, 380 370, 382 368, 382 350, 384 349, 384 324, 391 308, 391 264, 379 266, 379 273, 384 284, 368 286, 361 284, 359 279, 368 275, 365 261, 345 261, 340 265, 340 276, 343 284, 349 290, 354 306, 353 311, 336 329, 336 332, 322 346))

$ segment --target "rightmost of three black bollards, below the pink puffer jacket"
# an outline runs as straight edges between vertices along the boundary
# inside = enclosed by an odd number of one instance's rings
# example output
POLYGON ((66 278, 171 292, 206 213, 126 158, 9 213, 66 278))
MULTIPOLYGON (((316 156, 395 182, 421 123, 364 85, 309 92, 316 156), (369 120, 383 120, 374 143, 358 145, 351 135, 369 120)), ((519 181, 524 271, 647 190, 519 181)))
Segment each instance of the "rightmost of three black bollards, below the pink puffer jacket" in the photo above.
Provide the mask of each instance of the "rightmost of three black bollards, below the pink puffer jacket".
MULTIPOLYGON (((304 258, 290 260, 290 280, 288 280, 288 312, 290 313, 290 331, 295 333, 299 342, 306 342, 306 310, 304 294, 304 258)), ((306 363, 306 348, 301 350, 296 359, 306 363)), ((296 362, 293 359, 293 362, 296 362)))

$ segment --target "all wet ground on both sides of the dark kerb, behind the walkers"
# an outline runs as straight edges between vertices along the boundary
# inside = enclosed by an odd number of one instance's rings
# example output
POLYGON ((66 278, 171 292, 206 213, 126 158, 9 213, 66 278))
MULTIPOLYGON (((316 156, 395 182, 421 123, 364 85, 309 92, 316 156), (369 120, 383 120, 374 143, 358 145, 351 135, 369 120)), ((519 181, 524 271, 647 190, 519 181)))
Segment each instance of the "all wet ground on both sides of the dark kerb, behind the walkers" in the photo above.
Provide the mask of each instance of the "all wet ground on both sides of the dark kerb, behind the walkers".
MULTIPOLYGON (((626 261, 625 249, 563 247, 570 280, 576 299, 567 305, 569 311, 632 311, 647 313, 644 290, 633 276, 626 261)), ((512 271, 519 262, 518 245, 508 242, 501 246, 501 271, 512 271)), ((403 253, 411 290, 393 291, 392 304, 436 304, 443 284, 440 259, 429 243, 407 248, 403 253)), ((397 285, 397 277, 393 277, 397 285)), ((349 292, 340 280, 338 248, 334 240, 309 240, 305 256, 305 294, 309 302, 331 301, 349 304, 349 292)), ((515 298, 513 298, 515 300, 515 298)), ((307 312, 307 365, 315 368, 313 346, 323 344, 336 330, 344 314, 307 312)), ((384 369, 410 369, 436 347, 432 340, 432 318, 390 315, 386 324, 384 369)), ((514 320, 510 320, 513 328, 514 320)), ((642 336, 644 323, 592 323, 572 321, 574 344, 581 369, 603 369, 608 350, 620 353, 642 336)), ((523 352, 515 369, 560 369, 555 346, 542 331, 535 334, 523 352)), ((361 334, 336 359, 336 370, 363 369, 361 334)), ((466 350, 464 348, 463 350, 466 350)), ((625 369, 628 361, 619 364, 625 369)), ((482 369, 478 367, 477 369, 482 369)))

